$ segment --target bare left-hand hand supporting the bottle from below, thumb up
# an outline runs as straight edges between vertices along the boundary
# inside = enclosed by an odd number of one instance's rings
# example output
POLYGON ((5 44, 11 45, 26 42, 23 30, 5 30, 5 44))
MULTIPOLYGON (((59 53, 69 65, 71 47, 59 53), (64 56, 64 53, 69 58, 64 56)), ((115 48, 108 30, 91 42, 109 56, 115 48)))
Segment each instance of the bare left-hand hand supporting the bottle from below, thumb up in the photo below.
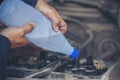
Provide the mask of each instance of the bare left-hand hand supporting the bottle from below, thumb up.
POLYGON ((25 38, 25 34, 31 32, 35 24, 30 22, 22 27, 11 27, 2 30, 0 34, 7 37, 11 43, 12 48, 24 46, 28 44, 28 40, 25 38))

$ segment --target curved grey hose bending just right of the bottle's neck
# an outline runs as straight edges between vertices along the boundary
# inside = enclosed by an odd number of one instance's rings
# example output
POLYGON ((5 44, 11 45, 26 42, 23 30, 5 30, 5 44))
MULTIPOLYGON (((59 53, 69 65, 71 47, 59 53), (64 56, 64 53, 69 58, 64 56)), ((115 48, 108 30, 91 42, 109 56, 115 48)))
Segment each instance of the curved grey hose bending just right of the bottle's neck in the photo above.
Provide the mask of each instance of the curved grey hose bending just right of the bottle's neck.
POLYGON ((82 27, 84 30, 85 30, 85 33, 88 34, 88 39, 80 45, 80 48, 84 48, 86 47, 92 40, 93 40, 93 33, 92 31, 88 28, 87 25, 83 24, 81 21, 79 21, 78 19, 75 19, 75 18, 71 18, 71 17, 68 17, 68 16, 62 16, 63 19, 65 20, 68 20, 68 21, 71 21, 71 22, 75 22, 77 24, 80 25, 80 27, 82 27))

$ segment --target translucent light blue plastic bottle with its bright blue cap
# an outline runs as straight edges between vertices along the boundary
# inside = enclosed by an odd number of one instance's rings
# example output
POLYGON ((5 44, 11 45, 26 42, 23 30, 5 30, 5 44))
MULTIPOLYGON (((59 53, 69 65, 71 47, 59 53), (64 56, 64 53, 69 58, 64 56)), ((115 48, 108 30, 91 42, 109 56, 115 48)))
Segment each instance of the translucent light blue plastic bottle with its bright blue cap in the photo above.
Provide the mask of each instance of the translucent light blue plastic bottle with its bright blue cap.
POLYGON ((78 50, 72 47, 63 34, 54 32, 51 21, 22 0, 4 0, 0 6, 0 21, 9 27, 35 22, 35 29, 26 34, 27 39, 38 47, 76 58, 78 50))

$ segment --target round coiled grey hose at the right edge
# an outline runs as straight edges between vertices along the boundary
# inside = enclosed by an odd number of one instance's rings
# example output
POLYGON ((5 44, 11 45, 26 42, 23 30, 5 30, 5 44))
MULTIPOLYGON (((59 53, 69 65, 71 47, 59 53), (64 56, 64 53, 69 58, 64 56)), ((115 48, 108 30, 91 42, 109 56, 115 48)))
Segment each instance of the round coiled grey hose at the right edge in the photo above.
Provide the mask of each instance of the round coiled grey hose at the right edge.
POLYGON ((119 43, 115 39, 104 39, 98 44, 98 52, 100 54, 99 58, 107 58, 116 52, 119 43), (106 51, 107 50, 107 51, 106 51), (104 52, 105 51, 105 52, 104 52))

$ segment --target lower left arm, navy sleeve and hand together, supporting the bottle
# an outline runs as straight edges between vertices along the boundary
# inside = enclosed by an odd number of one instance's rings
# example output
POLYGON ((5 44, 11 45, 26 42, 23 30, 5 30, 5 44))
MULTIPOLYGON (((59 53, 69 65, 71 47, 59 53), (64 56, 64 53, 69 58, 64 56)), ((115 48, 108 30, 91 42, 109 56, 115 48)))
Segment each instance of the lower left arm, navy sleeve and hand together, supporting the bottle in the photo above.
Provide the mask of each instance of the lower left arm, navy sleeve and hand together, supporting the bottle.
POLYGON ((9 48, 24 46, 28 43, 25 34, 31 32, 34 23, 22 27, 6 28, 0 32, 0 80, 6 80, 6 62, 9 48))

